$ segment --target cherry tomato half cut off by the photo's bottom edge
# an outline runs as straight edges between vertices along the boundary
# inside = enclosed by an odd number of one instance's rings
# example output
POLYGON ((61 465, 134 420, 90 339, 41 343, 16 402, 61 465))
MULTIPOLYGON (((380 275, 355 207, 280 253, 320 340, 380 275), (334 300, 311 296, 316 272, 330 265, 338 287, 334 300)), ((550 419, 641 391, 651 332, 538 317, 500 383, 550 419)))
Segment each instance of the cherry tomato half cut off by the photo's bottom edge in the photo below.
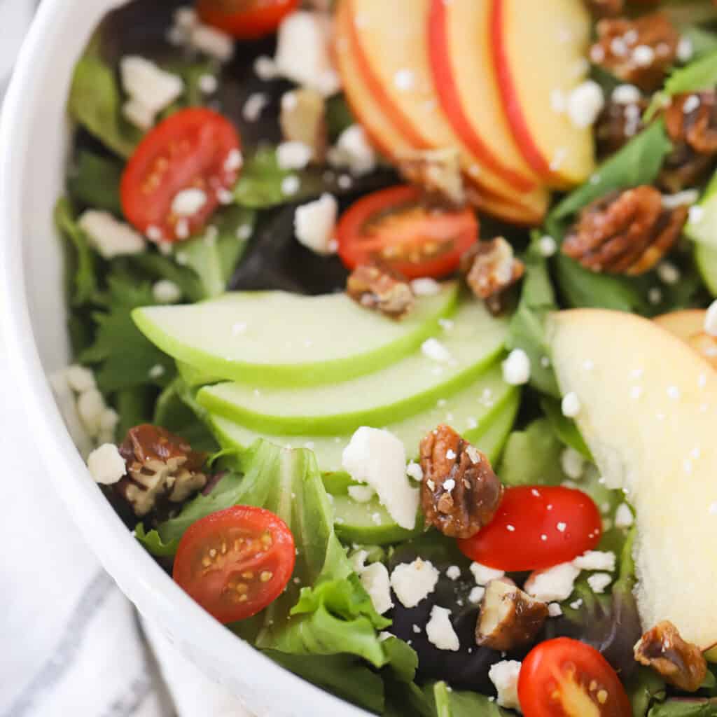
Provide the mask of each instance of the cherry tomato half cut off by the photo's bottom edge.
POLYGON ((630 717, 617 673, 590 645, 557 637, 523 660, 518 701, 525 717, 630 717))

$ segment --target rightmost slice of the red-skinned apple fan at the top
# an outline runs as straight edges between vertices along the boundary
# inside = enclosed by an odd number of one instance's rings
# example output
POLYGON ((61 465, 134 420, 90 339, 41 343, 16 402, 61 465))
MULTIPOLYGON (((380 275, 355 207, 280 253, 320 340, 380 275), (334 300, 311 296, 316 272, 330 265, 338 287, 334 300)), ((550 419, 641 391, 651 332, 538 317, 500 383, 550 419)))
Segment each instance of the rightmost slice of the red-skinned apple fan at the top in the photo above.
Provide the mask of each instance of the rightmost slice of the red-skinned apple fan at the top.
POLYGON ((590 19, 582 0, 490 0, 490 42, 503 108, 528 164, 550 186, 594 169, 591 128, 556 112, 554 97, 584 79, 590 19))

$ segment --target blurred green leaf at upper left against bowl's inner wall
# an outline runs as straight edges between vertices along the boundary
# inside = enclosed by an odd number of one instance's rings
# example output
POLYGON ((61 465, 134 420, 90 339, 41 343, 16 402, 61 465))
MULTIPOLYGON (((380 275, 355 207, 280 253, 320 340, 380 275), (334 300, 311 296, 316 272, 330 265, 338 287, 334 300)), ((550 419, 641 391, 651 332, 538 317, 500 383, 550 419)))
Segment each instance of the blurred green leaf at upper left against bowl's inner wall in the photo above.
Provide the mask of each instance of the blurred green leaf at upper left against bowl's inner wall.
POLYGON ((123 119, 121 104, 117 74, 100 57, 98 43, 92 42, 75 65, 67 110, 106 147, 127 158, 142 133, 123 119))

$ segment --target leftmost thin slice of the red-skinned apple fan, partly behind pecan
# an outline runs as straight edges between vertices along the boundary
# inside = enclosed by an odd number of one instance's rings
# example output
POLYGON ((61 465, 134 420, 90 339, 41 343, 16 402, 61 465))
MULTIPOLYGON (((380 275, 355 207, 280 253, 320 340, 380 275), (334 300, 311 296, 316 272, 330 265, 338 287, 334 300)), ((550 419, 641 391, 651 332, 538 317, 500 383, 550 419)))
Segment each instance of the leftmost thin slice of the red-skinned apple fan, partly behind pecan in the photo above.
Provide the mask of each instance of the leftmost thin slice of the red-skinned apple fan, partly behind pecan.
MULTIPOLYGON (((384 110, 390 103, 381 103, 369 90, 358 58, 359 53, 355 52, 353 45, 348 3, 342 2, 336 13, 336 62, 351 112, 368 133, 371 143, 384 156, 396 160, 416 148, 423 148, 422 142, 412 144, 386 115, 384 110)), ((475 187, 468 178, 467 184, 471 203, 487 214, 515 224, 539 224, 543 219, 546 203, 541 195, 528 194, 508 200, 475 187), (537 197, 539 201, 533 201, 531 204, 533 197, 537 197), (526 199, 528 201, 525 201, 526 199)))

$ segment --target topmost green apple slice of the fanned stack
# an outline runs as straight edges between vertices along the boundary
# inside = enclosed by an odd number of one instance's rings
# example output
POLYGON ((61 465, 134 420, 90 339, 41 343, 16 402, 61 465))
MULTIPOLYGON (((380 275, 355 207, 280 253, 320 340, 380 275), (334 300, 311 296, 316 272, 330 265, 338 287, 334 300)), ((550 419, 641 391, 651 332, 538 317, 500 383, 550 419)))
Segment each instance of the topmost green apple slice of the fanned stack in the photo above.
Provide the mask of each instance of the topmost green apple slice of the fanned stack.
POLYGON ((174 359, 209 376, 263 386, 344 381, 402 359, 437 331, 458 287, 420 297, 401 321, 361 308, 346 294, 232 292, 186 306, 133 311, 140 331, 174 359))

